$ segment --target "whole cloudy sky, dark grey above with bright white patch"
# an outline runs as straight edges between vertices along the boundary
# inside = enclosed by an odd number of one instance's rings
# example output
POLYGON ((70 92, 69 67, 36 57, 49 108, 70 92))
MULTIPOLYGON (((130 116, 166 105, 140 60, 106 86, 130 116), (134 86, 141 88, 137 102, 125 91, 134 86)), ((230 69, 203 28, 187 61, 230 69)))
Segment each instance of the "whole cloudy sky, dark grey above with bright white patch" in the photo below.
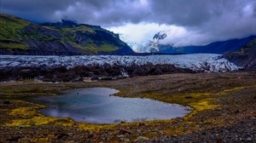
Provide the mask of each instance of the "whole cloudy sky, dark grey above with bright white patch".
MULTIPOLYGON (((137 52, 159 31, 162 44, 205 45, 256 34, 255 0, 0 0, 0 13, 32 22, 61 19, 119 33, 137 52)), ((146 48, 145 48, 146 47, 146 48)))

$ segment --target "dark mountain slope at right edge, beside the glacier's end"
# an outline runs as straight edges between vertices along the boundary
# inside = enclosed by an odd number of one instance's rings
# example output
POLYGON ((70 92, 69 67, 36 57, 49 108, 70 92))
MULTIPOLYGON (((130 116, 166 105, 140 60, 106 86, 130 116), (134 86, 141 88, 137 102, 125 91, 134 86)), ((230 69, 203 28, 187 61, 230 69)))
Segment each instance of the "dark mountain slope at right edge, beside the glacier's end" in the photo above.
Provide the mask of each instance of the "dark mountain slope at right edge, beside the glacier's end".
POLYGON ((248 70, 256 70, 256 38, 236 52, 224 54, 224 58, 248 70))

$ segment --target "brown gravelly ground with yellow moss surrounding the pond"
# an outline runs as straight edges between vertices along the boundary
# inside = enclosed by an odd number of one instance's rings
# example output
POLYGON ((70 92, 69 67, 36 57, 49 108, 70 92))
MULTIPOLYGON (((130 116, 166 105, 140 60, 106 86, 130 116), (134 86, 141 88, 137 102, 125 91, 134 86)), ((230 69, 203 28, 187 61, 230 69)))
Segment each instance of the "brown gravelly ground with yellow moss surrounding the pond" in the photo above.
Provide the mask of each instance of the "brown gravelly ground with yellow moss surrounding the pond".
POLYGON ((0 83, 0 142, 91 141, 124 142, 160 136, 179 136, 198 130, 231 126, 256 117, 255 72, 171 74, 131 77, 96 83, 0 83), (109 87, 122 97, 141 97, 190 106, 186 117, 144 123, 76 123, 65 117, 45 117, 44 106, 27 102, 27 96, 57 95, 62 89, 109 87), (3 104, 9 100, 10 104, 3 104))

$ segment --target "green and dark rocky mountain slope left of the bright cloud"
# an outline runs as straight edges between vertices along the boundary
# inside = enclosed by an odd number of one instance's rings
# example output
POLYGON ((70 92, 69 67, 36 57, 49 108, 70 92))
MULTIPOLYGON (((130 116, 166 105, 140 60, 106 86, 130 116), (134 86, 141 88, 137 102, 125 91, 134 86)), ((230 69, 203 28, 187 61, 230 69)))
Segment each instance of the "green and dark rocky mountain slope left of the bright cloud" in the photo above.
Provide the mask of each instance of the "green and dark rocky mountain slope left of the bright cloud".
POLYGON ((0 54, 133 54, 118 34, 71 20, 41 25, 0 14, 0 54))

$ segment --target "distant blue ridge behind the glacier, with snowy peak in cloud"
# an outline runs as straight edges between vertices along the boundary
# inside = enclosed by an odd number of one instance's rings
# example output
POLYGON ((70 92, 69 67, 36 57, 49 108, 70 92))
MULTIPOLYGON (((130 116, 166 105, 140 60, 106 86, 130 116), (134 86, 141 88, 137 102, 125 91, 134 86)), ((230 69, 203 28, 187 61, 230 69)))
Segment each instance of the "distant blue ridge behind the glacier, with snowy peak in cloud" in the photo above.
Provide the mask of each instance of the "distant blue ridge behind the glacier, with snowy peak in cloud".
POLYGON ((226 52, 236 51, 241 49, 256 36, 244 37, 241 39, 230 39, 221 42, 209 43, 204 46, 186 46, 175 48, 172 45, 160 44, 160 40, 167 37, 167 34, 164 31, 160 31, 154 35, 149 44, 151 52, 159 52, 166 54, 197 54, 197 53, 206 53, 206 54, 224 54, 226 52), (156 49, 156 50, 155 50, 156 49))

